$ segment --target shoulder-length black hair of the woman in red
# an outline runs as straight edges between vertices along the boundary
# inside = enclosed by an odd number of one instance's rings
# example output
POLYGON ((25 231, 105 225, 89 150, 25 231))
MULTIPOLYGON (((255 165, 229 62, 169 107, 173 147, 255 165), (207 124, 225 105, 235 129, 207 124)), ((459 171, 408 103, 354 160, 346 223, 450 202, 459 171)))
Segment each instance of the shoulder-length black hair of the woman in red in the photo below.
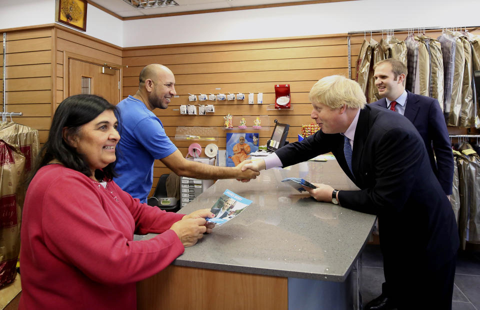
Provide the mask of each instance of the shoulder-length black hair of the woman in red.
MULTIPOLYGON (((74 147, 68 145, 63 139, 63 128, 67 128, 66 136, 77 135, 80 126, 93 120, 105 110, 111 110, 116 119, 120 122, 120 114, 115 105, 110 104, 104 98, 92 94, 77 94, 69 96, 61 101, 56 108, 53 120, 51 122, 48 140, 40 150, 40 156, 32 171, 32 176, 39 168, 46 165, 52 159, 57 159, 65 167, 79 171, 86 176, 91 176, 88 163, 82 154, 78 153, 74 147)), ((115 148, 115 155, 117 154, 115 148)), ((115 162, 109 163, 102 170, 95 170, 97 179, 111 180, 117 176, 114 170, 115 162)))

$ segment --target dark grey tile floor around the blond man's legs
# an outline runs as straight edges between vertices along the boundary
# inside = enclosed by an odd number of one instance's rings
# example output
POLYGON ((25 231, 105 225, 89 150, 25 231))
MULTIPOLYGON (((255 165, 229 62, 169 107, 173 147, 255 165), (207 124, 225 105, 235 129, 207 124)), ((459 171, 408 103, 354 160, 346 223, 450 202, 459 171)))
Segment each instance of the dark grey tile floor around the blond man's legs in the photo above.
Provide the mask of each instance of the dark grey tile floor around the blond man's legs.
MULTIPOLYGON (((380 295, 383 263, 379 245, 367 244, 361 254, 362 303, 380 295)), ((460 251, 456 262, 452 310, 480 310, 480 252, 460 251)))

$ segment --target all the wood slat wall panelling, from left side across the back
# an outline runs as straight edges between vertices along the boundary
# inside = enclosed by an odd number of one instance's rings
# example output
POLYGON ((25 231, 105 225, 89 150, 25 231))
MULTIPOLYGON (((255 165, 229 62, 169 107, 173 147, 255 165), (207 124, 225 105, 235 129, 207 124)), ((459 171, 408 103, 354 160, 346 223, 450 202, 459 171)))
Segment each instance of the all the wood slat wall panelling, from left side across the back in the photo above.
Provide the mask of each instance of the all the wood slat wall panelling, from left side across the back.
MULTIPOLYGON (((440 31, 427 32, 431 37, 441 34, 440 31)), ((480 34, 480 30, 472 32, 480 34)), ((404 39, 406 33, 396 33, 395 36, 404 39)), ((369 39, 369 35, 366 37, 369 39)), ((373 38, 379 40, 381 34, 373 35, 373 38)), ((14 120, 38 129, 40 143, 47 138, 57 104, 68 94, 65 61, 69 56, 94 63, 128 65, 122 70, 123 97, 135 93, 143 66, 149 63, 167 65, 175 74, 179 97, 173 98, 167 109, 156 109, 155 113, 184 156, 192 141, 175 140, 176 127, 214 127, 218 136, 214 143, 224 149, 227 132, 242 132, 223 128, 223 116, 228 112, 236 116, 268 115, 269 123, 262 123, 265 128, 269 126, 267 130, 247 130, 259 132, 260 144, 266 143, 271 135, 274 119, 290 124, 288 139, 295 141, 301 124, 311 122, 308 92, 313 83, 331 74, 348 76, 346 34, 120 48, 51 24, 8 30, 6 40, 6 111, 22 112, 23 116, 14 117, 14 120), (290 84, 290 110, 271 109, 275 84, 290 84), (188 93, 198 95, 200 92, 243 92, 246 95, 254 92, 255 104, 248 104, 247 98, 241 101, 203 101, 204 104, 213 103, 215 112, 201 116, 180 115, 179 105, 190 103, 188 93), (258 92, 263 93, 263 104, 256 104, 258 92)), ((355 61, 362 40, 363 35, 351 37, 352 78, 356 75, 355 61)), ((456 127, 449 128, 449 131, 466 133, 466 129, 456 127)), ((210 143, 197 142, 203 148, 210 143)), ((162 173, 169 173, 169 169, 156 160, 154 185, 162 173)))

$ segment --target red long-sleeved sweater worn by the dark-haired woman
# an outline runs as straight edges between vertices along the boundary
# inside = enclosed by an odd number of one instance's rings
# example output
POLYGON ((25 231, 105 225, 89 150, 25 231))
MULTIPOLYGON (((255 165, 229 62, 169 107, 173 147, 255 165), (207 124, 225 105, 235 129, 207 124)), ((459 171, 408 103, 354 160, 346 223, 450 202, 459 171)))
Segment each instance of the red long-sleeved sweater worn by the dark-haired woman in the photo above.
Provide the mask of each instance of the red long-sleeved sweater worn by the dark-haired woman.
POLYGON ((135 309, 135 282, 183 253, 183 214, 140 203, 115 182, 49 164, 26 192, 19 309, 135 309), (133 241, 133 233, 161 233, 133 241))

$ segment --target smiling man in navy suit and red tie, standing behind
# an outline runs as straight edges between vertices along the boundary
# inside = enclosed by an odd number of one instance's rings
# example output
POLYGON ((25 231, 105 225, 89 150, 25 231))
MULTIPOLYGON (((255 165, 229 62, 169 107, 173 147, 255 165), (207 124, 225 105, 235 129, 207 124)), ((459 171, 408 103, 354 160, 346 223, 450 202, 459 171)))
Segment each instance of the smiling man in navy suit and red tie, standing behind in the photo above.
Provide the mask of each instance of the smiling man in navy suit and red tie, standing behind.
MULTIPOLYGON (((453 155, 443 113, 437 99, 405 90, 407 72, 407 67, 400 60, 389 58, 376 63, 375 85, 382 98, 370 104, 396 111, 411 121, 425 143, 433 173, 449 197, 452 192, 453 155)), ((383 270, 387 278, 388 265, 383 270)), ((395 304, 389 298, 387 282, 382 284, 381 295, 368 302, 365 307, 366 310, 393 308, 395 304)))

